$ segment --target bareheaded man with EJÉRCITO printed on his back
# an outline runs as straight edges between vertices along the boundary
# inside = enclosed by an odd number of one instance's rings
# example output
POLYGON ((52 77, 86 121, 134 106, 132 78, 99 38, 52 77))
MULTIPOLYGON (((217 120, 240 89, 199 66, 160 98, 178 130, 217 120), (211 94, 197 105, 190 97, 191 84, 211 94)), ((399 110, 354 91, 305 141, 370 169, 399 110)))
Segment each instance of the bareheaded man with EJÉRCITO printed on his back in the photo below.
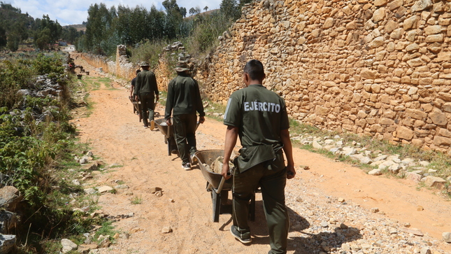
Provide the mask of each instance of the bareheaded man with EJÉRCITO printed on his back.
POLYGON ((249 201, 260 186, 269 230, 269 254, 287 253, 289 218, 285 206, 285 184, 294 178, 292 143, 285 101, 262 85, 263 64, 249 61, 244 67, 245 88, 231 94, 224 114, 227 125, 222 176, 228 179, 229 160, 239 136, 242 148, 235 164, 233 225, 231 234, 249 244, 249 201), (282 150, 287 157, 285 167, 282 150))

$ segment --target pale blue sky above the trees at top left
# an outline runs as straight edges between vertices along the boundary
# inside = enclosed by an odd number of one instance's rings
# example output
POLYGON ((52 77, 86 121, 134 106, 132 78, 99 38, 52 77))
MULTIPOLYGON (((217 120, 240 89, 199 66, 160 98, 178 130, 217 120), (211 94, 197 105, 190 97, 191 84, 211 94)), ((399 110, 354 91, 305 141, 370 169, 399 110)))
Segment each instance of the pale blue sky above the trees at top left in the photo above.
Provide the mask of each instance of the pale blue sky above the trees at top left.
MULTIPOLYGON (((143 6, 150 10, 152 4, 157 9, 164 9, 162 2, 164 0, 136 0, 136 1, 122 1, 122 0, 108 0, 108 1, 94 1, 94 0, 3 0, 3 3, 10 3, 15 8, 20 8, 22 13, 28 13, 31 17, 42 18, 43 15, 48 15, 50 20, 58 20, 62 26, 67 24, 81 24, 87 20, 87 9, 94 3, 105 3, 108 8, 111 6, 129 6, 134 8, 136 6, 143 6)), ((187 8, 187 15, 189 9, 199 6, 201 10, 208 6, 209 10, 220 7, 221 0, 178 0, 178 6, 187 8)))

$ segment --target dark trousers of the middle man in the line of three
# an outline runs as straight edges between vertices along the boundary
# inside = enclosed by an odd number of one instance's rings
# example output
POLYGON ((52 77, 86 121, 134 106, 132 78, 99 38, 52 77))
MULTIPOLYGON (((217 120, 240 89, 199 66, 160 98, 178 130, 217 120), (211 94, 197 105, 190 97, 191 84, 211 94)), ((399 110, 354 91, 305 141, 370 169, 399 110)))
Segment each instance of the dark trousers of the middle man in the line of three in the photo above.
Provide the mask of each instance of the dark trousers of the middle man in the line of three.
POLYGON ((174 137, 182 163, 189 162, 189 155, 196 153, 196 114, 174 115, 174 137))

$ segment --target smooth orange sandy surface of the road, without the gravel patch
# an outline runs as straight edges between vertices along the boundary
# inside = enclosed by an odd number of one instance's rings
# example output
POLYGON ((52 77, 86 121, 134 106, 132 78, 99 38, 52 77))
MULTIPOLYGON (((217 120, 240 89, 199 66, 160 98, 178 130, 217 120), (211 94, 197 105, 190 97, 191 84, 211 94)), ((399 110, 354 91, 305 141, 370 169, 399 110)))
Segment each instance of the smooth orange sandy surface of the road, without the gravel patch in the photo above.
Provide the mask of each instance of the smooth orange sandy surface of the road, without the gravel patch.
MULTIPOLYGON (((89 69, 85 62, 83 65, 89 69)), ((134 213, 114 223, 116 230, 130 234, 129 239, 117 239, 106 253, 267 253, 269 238, 261 197, 257 195, 257 220, 251 223, 254 241, 248 246, 240 244, 228 232, 229 214, 222 214, 219 223, 212 222, 210 192, 199 167, 183 170, 180 158, 168 155, 164 136, 138 122, 129 91, 112 85, 114 89, 107 85, 90 92, 92 114, 73 119, 79 124, 80 140, 90 143, 94 155, 106 164, 123 166, 99 174, 91 184, 115 186, 113 182, 119 180, 129 186, 99 199, 99 206, 110 216, 134 213), (151 194, 152 187, 162 188, 162 197, 151 194), (141 199, 141 204, 132 204, 132 199, 141 199), (164 227, 171 227, 173 232, 162 234, 164 227)), ((158 104, 157 111, 163 114, 164 107, 158 104)), ((196 132, 198 150, 222 149, 224 134, 222 122, 207 118, 196 132)), ((343 197, 364 209, 378 207, 387 218, 410 223, 440 240, 442 232, 451 231, 450 202, 438 191, 417 190, 414 183, 396 178, 368 176, 356 167, 297 148, 294 160, 298 172, 287 182, 290 197, 313 195, 318 204, 327 204, 327 198, 343 197), (301 165, 310 170, 299 168, 301 165), (296 192, 300 185, 308 192, 296 192), (424 210, 417 211, 417 206, 424 210)), ((443 248, 451 253, 450 245, 443 248)))

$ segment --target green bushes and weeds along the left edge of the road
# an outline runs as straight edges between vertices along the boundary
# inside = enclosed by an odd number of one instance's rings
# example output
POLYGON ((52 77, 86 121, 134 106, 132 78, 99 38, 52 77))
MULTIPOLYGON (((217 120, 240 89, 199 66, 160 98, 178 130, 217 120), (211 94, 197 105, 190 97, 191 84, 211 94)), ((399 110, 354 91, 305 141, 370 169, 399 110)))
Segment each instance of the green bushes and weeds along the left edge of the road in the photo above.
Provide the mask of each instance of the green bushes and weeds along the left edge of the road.
POLYGON ((13 185, 24 197, 15 210, 20 215, 16 253, 54 253, 61 248, 60 239, 76 241, 105 222, 73 211, 83 205, 94 211, 96 200, 71 182, 82 171, 74 156, 81 157, 87 146, 78 143, 76 129, 69 124, 76 79, 64 72, 63 63, 64 56, 58 54, 14 55, 0 61, 0 187, 13 185), (38 76, 65 87, 63 96, 17 93, 38 88, 38 76), (50 112, 52 120, 38 118, 44 112, 50 112))

